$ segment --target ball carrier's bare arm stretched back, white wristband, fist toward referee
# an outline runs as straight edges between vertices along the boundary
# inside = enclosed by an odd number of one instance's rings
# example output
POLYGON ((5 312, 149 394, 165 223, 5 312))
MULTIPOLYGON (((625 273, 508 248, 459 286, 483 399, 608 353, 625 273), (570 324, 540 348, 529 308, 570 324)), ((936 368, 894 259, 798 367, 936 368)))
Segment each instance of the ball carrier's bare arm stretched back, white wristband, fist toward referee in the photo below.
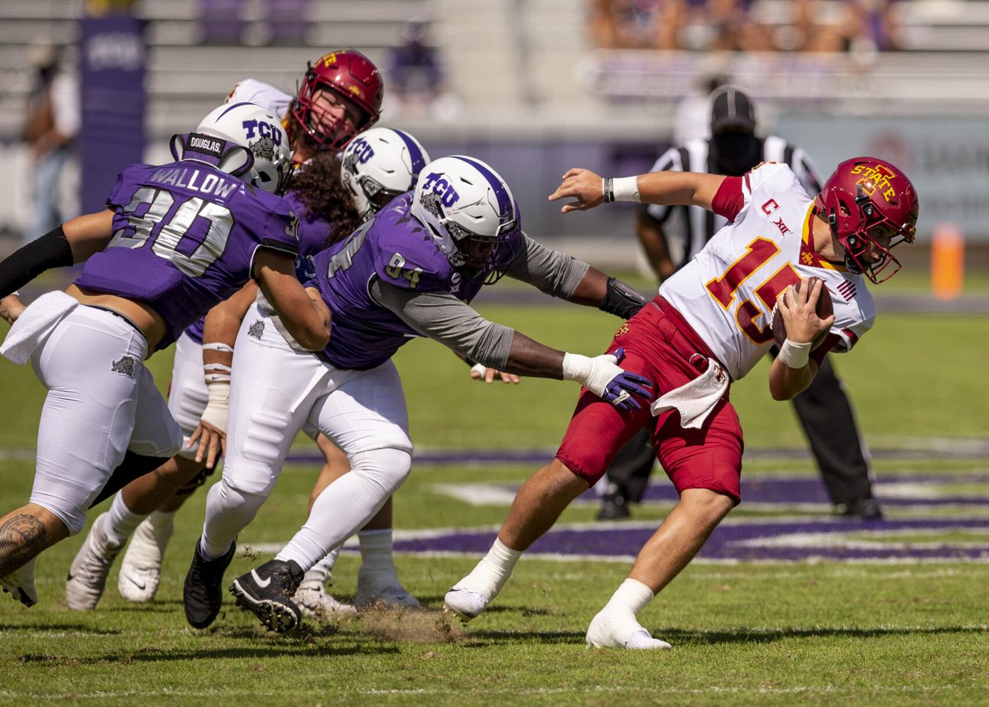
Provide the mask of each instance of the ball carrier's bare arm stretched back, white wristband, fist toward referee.
POLYGON ((549 200, 576 200, 563 205, 560 210, 563 214, 586 211, 608 202, 696 206, 710 211, 724 179, 717 174, 674 171, 605 179, 589 169, 575 168, 563 175, 563 182, 549 200))

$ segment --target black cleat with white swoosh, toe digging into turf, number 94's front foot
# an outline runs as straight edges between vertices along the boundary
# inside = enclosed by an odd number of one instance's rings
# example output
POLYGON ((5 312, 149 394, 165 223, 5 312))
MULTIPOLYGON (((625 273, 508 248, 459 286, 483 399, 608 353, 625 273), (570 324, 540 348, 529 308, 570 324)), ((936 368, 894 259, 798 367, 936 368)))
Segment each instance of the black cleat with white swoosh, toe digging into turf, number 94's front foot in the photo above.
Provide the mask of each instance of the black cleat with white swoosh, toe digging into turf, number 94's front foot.
POLYGON ((268 630, 281 634, 294 629, 303 619, 292 595, 305 575, 291 560, 272 560, 234 579, 230 593, 236 597, 237 606, 261 619, 268 630))

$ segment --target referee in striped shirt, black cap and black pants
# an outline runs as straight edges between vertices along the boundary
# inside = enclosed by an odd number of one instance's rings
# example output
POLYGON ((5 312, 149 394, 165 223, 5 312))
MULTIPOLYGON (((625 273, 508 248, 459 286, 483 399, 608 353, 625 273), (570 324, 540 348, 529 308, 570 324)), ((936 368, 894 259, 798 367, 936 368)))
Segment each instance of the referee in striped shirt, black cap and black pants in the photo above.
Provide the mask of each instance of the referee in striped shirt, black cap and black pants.
MULTIPOLYGON (((733 86, 721 86, 711 94, 711 137, 672 147, 650 171, 740 177, 761 162, 783 162, 809 195, 821 192, 821 179, 807 153, 782 137, 757 136, 752 100, 733 86)), ((662 281, 700 252, 726 222, 700 207, 643 205, 636 216, 636 232, 662 281)), ((831 356, 825 357, 810 387, 793 398, 793 406, 836 510, 863 519, 881 518, 852 405, 831 356)), ((626 517, 625 503, 641 500, 656 459, 649 432, 643 431, 619 452, 608 470, 598 518, 626 517)))

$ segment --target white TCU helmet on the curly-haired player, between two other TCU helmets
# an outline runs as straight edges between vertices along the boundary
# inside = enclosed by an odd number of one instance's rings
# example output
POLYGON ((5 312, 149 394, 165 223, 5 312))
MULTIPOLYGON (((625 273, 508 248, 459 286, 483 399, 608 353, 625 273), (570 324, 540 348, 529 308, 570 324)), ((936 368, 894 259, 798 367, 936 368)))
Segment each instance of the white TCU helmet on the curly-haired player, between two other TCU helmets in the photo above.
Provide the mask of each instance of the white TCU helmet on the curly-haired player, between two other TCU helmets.
POLYGON ((340 178, 353 194, 362 219, 405 194, 429 161, 419 141, 403 131, 372 128, 347 143, 340 178))

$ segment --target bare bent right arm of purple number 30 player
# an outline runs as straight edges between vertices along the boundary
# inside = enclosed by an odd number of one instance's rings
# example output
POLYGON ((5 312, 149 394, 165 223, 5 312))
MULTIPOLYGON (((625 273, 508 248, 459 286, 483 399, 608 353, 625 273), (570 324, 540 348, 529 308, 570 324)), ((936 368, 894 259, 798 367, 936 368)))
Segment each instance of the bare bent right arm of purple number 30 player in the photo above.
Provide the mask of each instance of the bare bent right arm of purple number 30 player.
POLYGON ((254 279, 300 346, 319 351, 329 343, 329 309, 315 288, 296 279, 295 258, 271 248, 254 256, 254 279))

